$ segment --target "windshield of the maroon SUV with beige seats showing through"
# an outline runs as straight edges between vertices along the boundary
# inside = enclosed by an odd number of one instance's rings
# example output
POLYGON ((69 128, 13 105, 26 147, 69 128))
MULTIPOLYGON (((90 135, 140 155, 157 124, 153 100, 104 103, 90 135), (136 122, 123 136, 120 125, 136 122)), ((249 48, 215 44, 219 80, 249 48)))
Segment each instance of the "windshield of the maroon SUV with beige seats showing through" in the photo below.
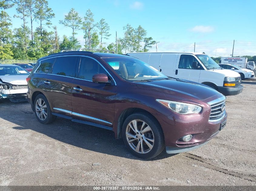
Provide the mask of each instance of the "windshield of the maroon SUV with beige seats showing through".
POLYGON ((104 58, 115 72, 126 80, 156 80, 168 78, 154 67, 133 58, 104 58))

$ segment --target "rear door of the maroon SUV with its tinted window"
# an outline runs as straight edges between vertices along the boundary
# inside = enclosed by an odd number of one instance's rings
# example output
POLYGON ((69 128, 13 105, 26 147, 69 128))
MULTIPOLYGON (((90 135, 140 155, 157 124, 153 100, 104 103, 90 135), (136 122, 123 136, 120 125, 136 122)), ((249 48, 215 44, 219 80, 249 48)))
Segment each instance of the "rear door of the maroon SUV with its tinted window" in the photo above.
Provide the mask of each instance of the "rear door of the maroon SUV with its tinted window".
POLYGON ((71 84, 74 80, 78 56, 57 57, 43 79, 43 91, 54 113, 71 116, 71 84))

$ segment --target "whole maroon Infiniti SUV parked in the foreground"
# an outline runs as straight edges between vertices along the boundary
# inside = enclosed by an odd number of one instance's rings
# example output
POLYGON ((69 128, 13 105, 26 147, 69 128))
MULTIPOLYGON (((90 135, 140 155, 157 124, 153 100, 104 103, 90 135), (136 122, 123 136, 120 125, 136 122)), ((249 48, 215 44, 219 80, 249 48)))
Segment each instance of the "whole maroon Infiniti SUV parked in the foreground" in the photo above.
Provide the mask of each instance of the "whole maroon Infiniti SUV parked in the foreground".
POLYGON ((198 148, 226 124, 221 93, 131 56, 56 53, 39 59, 27 81, 39 122, 58 116, 112 130, 141 158, 198 148))

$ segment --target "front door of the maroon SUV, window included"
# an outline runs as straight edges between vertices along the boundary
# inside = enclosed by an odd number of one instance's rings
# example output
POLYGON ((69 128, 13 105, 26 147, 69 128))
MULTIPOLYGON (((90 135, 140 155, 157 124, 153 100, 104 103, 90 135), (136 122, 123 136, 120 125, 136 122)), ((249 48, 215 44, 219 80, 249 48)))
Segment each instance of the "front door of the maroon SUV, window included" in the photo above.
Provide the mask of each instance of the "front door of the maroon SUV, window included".
POLYGON ((77 77, 72 82, 72 116, 78 120, 112 127, 116 85, 113 80, 111 84, 92 82, 92 76, 100 73, 108 75, 96 59, 81 57, 77 77))

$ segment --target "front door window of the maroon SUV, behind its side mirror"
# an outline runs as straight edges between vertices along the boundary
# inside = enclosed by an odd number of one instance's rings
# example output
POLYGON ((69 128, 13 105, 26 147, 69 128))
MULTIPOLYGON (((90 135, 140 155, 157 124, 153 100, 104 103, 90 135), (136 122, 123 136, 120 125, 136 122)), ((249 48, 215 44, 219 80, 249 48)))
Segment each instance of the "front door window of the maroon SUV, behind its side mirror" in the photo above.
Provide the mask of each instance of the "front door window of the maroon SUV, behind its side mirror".
POLYGON ((77 78, 92 81, 92 76, 95 74, 108 75, 106 70, 94 59, 88 57, 81 57, 77 78))

